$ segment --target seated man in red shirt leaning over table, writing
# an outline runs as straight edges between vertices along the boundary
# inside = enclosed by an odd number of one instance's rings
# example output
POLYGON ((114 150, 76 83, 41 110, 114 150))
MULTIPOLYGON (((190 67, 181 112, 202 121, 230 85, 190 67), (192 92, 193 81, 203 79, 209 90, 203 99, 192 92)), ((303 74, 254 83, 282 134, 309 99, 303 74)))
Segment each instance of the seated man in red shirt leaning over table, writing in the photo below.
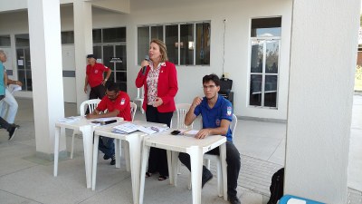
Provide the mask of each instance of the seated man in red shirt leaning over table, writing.
MULTIPOLYGON (((87 119, 122 117, 125 121, 132 121, 129 94, 127 92, 120 92, 119 86, 116 83, 109 83, 106 95, 102 98, 94 112, 87 114, 86 117, 87 119), (106 110, 108 112, 104 113, 106 110)), ((100 137, 100 151, 104 153, 104 160, 112 159, 110 165, 116 163, 113 141, 113 138, 100 137)))

